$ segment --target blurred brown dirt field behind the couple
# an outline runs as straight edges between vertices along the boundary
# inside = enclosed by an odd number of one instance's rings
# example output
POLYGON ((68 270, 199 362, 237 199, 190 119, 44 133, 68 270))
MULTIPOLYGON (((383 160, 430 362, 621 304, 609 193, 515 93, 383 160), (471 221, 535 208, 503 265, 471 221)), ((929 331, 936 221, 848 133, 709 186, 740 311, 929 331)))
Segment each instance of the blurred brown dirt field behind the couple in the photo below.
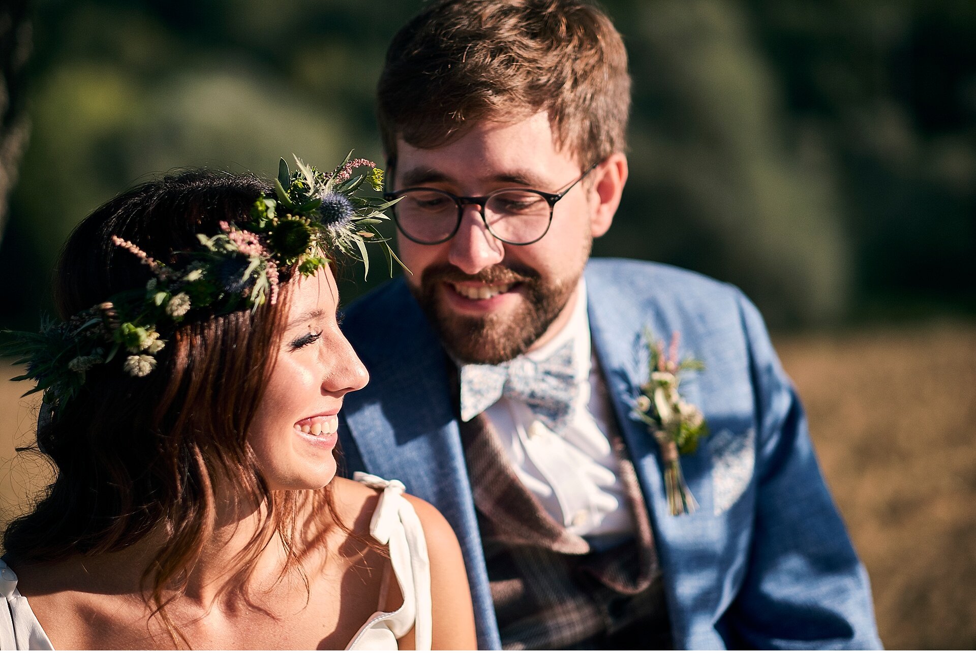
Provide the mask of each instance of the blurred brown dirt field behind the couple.
MULTIPOLYGON (((888 648, 976 648, 976 326, 776 339, 821 464, 871 573, 888 648)), ((0 366, 0 378, 15 372, 0 366)), ((12 464, 32 426, 0 382, 0 511, 39 486, 12 464)))

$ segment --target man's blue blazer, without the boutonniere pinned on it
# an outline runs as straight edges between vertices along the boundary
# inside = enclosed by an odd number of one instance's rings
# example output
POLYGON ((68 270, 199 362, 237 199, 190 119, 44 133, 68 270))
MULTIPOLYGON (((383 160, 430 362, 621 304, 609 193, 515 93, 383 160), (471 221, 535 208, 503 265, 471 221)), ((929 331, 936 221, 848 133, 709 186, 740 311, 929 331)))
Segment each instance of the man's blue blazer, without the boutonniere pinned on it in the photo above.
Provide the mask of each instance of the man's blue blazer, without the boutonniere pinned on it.
MULTIPOLYGON (((593 260, 590 330, 650 510, 676 648, 879 648, 868 576, 817 465, 803 409, 758 311, 729 285, 668 265, 593 260), (630 418, 646 381, 640 336, 681 335, 706 370, 682 395, 712 431, 681 459, 700 504, 671 516, 657 446, 630 418)), ((446 354, 402 279, 346 310, 370 372, 346 396, 349 473, 402 480, 454 527, 480 648, 501 647, 446 354)))

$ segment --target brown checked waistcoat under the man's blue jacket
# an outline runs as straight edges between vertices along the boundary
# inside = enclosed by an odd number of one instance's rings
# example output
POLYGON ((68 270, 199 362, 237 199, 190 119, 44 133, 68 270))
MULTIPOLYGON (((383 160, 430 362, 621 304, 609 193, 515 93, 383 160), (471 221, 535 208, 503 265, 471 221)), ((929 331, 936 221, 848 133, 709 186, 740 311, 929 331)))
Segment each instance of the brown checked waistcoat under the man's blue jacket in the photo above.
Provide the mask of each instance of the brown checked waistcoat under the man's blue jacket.
POLYGON ((613 446, 636 537, 591 551, 518 481, 483 415, 461 437, 503 647, 671 648, 654 536, 623 441, 613 446))

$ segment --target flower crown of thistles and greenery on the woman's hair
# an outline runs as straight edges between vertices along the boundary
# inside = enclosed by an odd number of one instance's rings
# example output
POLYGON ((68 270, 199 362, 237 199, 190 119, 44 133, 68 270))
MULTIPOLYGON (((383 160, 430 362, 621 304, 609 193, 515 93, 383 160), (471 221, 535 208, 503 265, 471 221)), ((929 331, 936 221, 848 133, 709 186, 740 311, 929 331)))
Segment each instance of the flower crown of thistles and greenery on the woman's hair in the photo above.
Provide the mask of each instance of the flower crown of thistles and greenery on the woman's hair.
MULTIPOLYGON (((251 209, 251 220, 221 222, 216 235, 198 233, 200 248, 183 252, 181 265, 164 265, 134 243, 112 241, 138 257, 152 271, 145 288, 125 291, 66 321, 45 320, 40 333, 0 332, 0 355, 17 356, 27 371, 13 381, 33 379, 44 402, 56 410, 85 383, 85 373, 107 364, 125 351, 122 368, 144 377, 156 367, 156 354, 166 347, 163 335, 195 314, 224 314, 257 309, 278 298, 278 270, 297 265, 304 276, 329 265, 326 252, 362 261, 369 273, 367 242, 384 244, 392 272, 394 260, 387 239, 376 229, 389 220, 384 210, 394 202, 360 197, 364 183, 383 189, 383 171, 372 161, 352 159, 352 152, 332 173, 305 165, 290 171, 281 159, 275 195, 262 195, 251 209), (366 172, 353 176, 365 168, 366 172)), ((402 264, 401 264, 402 265, 402 264)))

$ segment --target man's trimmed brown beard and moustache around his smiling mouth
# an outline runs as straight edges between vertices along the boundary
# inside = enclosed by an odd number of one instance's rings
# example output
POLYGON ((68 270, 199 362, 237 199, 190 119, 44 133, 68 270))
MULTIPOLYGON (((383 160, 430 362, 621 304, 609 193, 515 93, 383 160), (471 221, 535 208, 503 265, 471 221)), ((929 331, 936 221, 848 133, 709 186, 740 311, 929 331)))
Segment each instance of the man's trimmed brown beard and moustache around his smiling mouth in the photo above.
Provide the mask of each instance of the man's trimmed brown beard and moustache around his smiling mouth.
POLYGON ((455 359, 462 363, 497 364, 524 353, 546 333, 578 282, 579 274, 573 279, 546 281, 524 265, 492 265, 477 274, 466 274, 454 265, 444 264, 427 267, 420 288, 411 287, 411 292, 455 359), (445 292, 442 286, 449 281, 517 283, 519 302, 513 310, 479 316, 458 314, 444 306, 441 299, 445 292))

